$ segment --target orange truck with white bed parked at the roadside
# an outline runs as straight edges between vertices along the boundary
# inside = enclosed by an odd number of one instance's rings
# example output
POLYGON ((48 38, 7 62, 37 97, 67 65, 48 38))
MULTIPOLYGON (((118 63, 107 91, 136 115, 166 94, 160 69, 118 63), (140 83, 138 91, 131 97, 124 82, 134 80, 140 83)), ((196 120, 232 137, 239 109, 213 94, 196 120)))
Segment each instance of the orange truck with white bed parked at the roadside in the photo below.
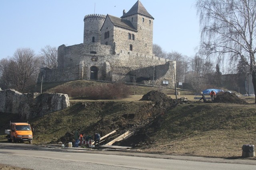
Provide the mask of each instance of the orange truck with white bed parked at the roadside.
POLYGON ((12 123, 10 122, 10 129, 5 130, 8 142, 24 142, 32 143, 33 133, 28 123, 12 123))

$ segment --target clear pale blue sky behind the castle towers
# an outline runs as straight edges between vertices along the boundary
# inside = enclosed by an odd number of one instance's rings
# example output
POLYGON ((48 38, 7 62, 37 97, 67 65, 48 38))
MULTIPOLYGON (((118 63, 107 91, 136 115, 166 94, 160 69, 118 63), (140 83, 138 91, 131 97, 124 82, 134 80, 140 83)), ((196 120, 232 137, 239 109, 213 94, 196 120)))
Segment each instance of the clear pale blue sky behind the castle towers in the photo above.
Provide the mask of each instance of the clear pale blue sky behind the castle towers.
MULTIPOLYGON (((17 48, 35 53, 46 45, 83 43, 84 16, 121 17, 137 0, 3 0, 0 5, 0 59, 17 48), (95 8, 94 8, 95 6, 95 8)), ((140 0, 154 17, 153 43, 191 57, 199 45, 195 0, 140 0)))

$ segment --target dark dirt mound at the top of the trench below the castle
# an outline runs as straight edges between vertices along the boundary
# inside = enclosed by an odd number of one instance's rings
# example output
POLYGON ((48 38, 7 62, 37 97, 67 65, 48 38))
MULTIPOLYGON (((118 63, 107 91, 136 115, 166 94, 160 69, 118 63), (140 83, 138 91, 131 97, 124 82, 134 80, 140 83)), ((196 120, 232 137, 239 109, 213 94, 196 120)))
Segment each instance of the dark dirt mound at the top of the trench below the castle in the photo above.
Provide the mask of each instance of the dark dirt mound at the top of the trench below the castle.
POLYGON ((156 90, 150 91, 142 96, 142 99, 151 102, 171 102, 172 98, 168 97, 166 94, 158 92, 156 90))

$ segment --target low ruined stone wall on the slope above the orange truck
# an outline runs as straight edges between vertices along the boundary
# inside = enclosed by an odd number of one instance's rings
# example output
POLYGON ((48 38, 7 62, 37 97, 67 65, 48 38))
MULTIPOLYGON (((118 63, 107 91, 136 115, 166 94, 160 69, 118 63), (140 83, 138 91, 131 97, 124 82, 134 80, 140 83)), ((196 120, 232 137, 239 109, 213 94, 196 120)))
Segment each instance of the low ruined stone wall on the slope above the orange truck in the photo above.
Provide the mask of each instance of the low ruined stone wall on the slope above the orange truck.
POLYGON ((70 106, 67 94, 22 94, 14 89, 0 90, 0 112, 31 119, 70 106))

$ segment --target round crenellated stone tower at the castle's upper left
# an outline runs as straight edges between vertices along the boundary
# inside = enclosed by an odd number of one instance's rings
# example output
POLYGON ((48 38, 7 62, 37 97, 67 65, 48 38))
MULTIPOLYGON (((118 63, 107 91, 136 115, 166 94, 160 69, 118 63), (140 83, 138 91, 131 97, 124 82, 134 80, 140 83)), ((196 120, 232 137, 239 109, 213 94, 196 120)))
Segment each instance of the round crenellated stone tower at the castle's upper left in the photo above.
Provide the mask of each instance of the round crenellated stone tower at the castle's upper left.
POLYGON ((89 14, 84 17, 84 44, 100 43, 100 29, 106 16, 89 14))

